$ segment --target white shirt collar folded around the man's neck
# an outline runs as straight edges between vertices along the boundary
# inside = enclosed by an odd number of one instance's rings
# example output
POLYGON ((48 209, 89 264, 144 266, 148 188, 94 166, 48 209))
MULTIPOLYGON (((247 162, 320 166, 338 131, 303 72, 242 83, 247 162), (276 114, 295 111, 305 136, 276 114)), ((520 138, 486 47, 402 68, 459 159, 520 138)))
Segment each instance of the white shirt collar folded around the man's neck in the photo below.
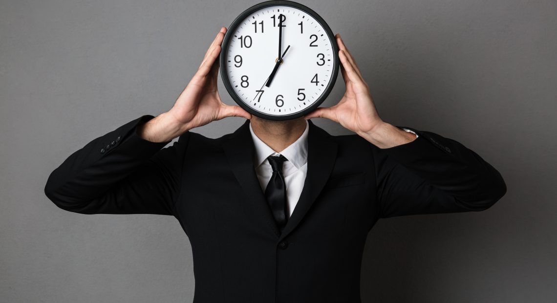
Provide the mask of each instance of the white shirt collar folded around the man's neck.
POLYGON ((250 123, 250 133, 253 139, 253 145, 255 145, 255 167, 261 165, 267 157, 273 154, 281 154, 286 159, 288 159, 297 169, 300 169, 304 164, 307 163, 307 134, 309 133, 309 123, 306 120, 306 129, 304 133, 298 138, 294 143, 287 146, 280 153, 276 153, 275 150, 270 148, 265 142, 263 142, 259 137, 253 133, 253 129, 250 123))

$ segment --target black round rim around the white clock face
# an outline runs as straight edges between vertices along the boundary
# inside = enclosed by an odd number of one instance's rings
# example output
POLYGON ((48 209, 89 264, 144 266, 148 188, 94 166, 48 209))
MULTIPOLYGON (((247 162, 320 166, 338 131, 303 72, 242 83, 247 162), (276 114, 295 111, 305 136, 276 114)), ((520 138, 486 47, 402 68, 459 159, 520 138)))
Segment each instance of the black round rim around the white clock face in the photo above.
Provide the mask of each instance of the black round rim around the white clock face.
POLYGON ((238 105, 240 105, 240 107, 245 109, 248 113, 258 116, 259 118, 262 119, 284 121, 284 120, 296 119, 303 115, 311 113, 311 111, 315 110, 329 96, 330 92, 333 90, 333 86, 335 85, 336 78, 339 74, 339 66, 340 66, 339 47, 336 44, 336 39, 335 36, 333 35, 333 31, 331 31, 329 25, 325 22, 323 18, 321 18, 321 16, 319 16, 319 14, 317 14, 311 8, 294 1, 286 1, 286 0, 265 1, 259 4, 255 4, 254 6, 246 9, 240 14, 240 16, 236 17, 236 19, 234 19, 234 21, 232 21, 232 24, 228 27, 228 30, 224 35, 224 40, 222 41, 222 46, 223 47, 221 48, 221 55, 220 55, 220 69, 221 69, 222 82, 224 82, 224 87, 226 87, 228 94, 232 97, 232 99, 234 99, 234 101, 238 105), (232 85, 230 84, 230 81, 228 80, 228 76, 227 76, 227 67, 226 67, 227 59, 226 59, 226 52, 223 51, 224 47, 228 45, 228 41, 230 40, 231 36, 233 36, 233 32, 236 31, 236 28, 240 25, 243 19, 249 17, 250 14, 252 14, 253 12, 268 6, 290 6, 297 9, 301 9, 302 11, 306 12, 311 17, 315 18, 317 22, 321 23, 321 26, 323 26, 325 33, 327 34, 327 36, 329 36, 329 39, 331 41, 331 47, 333 47, 333 56, 334 56, 333 74, 331 74, 331 80, 329 81, 329 84, 325 87, 325 91, 323 92, 323 94, 321 94, 319 99, 315 100, 314 104, 312 104, 310 107, 307 107, 304 110, 301 110, 297 113, 290 114, 290 115, 281 115, 281 116, 268 115, 265 113, 261 113, 260 111, 257 111, 255 109, 252 109, 244 101, 242 101, 240 97, 238 97, 238 95, 232 88, 232 85))

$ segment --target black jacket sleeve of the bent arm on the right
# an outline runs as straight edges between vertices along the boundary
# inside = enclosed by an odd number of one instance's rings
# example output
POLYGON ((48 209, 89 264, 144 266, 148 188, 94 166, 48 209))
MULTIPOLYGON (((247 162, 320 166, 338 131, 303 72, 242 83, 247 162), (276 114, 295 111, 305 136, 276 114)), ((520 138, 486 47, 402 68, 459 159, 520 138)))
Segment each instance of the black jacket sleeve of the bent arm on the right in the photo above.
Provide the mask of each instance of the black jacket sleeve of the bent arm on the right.
POLYGON ((374 157, 379 217, 483 211, 505 195, 501 174, 466 146, 416 130, 409 143, 380 149, 374 157))

